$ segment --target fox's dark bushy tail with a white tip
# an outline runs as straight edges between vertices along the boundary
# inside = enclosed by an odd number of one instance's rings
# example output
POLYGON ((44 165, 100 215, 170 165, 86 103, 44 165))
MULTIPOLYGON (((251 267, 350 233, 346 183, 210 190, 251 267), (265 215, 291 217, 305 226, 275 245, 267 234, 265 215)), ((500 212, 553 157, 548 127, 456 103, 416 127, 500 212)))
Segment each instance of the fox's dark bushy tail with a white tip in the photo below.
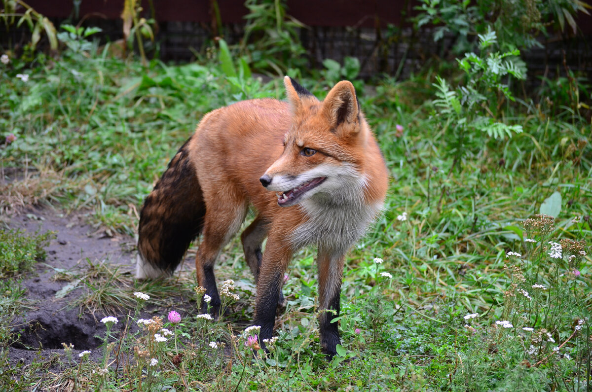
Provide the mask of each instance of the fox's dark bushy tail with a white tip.
POLYGON ((201 232, 205 203, 189 158, 189 140, 144 201, 138 228, 136 278, 172 274, 201 232))

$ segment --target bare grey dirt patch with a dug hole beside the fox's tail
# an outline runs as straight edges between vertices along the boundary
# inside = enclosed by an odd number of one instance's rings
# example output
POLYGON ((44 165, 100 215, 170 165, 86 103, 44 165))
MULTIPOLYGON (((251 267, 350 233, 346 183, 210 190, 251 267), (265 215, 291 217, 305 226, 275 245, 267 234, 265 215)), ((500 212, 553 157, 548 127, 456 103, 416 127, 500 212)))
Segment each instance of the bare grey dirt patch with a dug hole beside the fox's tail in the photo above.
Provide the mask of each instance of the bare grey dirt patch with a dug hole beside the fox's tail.
MULTIPOLYGON (((20 333, 20 339, 9 348, 9 361, 24 366, 45 361, 50 362, 50 368, 60 367, 66 362, 62 343, 74 346, 73 356, 92 350, 91 358, 99 358, 101 350, 94 349, 102 342, 97 336, 105 333, 105 326, 99 321, 105 314, 82 313, 79 306, 74 306, 85 290, 82 282, 65 295, 59 293, 72 284, 69 277, 83 275, 92 265, 106 263, 109 268, 118 267, 118 272, 131 276, 134 239, 97 230, 85 223, 83 214, 66 216, 49 208, 27 210, 8 219, 7 224, 9 229, 21 229, 28 234, 56 233, 46 248, 46 260, 36 264, 34 271, 22 281, 27 310, 20 320, 14 320, 14 332, 20 333)), ((126 314, 108 316, 125 320, 126 314)), ((117 332, 124 327, 125 322, 121 322, 112 330, 117 332)))

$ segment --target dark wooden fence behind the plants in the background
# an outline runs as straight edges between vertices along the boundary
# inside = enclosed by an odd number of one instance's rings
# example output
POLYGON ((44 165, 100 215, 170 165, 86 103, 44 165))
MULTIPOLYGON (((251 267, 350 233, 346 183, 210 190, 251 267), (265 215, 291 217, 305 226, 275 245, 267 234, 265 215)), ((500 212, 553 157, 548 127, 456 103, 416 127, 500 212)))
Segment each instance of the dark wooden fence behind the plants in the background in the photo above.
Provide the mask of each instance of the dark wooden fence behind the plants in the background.
MULTIPOLYGON (((123 0, 82 0, 76 8, 72 0, 28 0, 41 14, 60 21, 83 20, 98 25, 104 36, 121 38, 123 0)), ((158 26, 159 56, 175 62, 190 61, 192 49, 198 52, 214 36, 223 34, 229 43, 243 35, 244 0, 143 0, 143 16, 155 18, 158 26), (214 4, 224 28, 218 31, 214 4)), ((407 21, 415 0, 288 0, 288 12, 304 23, 301 41, 307 49, 311 67, 324 59, 341 62, 346 56, 358 57, 364 78, 387 73, 406 78, 428 61, 446 56, 451 39, 434 43, 429 29, 413 31, 407 21), (397 37, 389 36, 389 25, 397 27, 397 37)), ((564 72, 565 63, 592 79, 592 17, 581 14, 577 36, 556 34, 541 38, 542 49, 523 53, 529 64, 529 77, 564 72)), ((15 38, 12 38, 14 41, 15 38)), ((2 41, 2 40, 0 40, 2 41)))

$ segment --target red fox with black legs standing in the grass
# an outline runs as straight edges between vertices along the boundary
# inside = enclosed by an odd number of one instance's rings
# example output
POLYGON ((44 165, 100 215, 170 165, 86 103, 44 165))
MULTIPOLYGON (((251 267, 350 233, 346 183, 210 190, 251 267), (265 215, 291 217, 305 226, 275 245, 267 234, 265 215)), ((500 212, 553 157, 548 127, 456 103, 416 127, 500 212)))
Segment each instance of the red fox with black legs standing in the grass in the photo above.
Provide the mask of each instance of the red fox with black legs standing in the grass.
POLYGON ((201 234, 197 280, 217 316, 214 264, 252 208, 240 239, 256 283, 260 346, 274 333, 292 256, 316 246, 319 342, 333 357, 345 256, 382 213, 387 166, 351 82, 336 83, 323 101, 289 76, 284 86, 287 101, 239 101, 202 118, 141 208, 136 277, 171 275, 201 234))

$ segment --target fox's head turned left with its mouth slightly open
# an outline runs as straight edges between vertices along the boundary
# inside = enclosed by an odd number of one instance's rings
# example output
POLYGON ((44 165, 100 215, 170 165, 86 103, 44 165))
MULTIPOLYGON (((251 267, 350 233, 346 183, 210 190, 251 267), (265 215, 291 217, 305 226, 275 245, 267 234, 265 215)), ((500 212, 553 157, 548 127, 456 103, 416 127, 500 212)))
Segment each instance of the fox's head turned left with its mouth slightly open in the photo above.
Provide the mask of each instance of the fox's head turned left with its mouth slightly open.
MULTIPOLYGON (((368 124, 352 83, 341 81, 318 101, 286 76, 291 125, 284 152, 260 178, 282 207, 314 200, 345 203, 364 186, 368 124)), ((359 197, 358 197, 359 198, 359 197)))

